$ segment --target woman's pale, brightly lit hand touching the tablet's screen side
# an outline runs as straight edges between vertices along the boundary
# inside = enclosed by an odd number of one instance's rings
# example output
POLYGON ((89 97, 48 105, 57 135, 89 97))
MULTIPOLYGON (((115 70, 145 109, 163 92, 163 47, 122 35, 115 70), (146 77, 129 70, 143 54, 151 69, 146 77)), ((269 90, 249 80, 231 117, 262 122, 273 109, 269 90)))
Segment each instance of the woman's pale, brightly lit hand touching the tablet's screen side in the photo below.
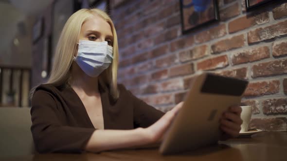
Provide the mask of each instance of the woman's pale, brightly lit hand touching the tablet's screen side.
POLYGON ((153 125, 144 129, 144 131, 148 137, 149 144, 161 142, 166 130, 170 126, 175 115, 179 112, 179 109, 182 107, 182 105, 183 105, 183 102, 180 102, 172 110, 165 113, 153 125))

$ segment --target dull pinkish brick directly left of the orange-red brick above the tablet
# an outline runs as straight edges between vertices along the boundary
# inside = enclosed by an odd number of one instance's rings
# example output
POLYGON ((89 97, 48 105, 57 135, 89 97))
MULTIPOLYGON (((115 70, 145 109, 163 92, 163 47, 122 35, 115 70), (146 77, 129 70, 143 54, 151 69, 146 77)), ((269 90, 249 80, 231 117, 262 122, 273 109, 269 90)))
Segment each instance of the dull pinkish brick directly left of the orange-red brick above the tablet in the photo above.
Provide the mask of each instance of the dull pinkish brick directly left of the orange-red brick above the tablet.
POLYGON ((169 77, 182 76, 194 73, 194 64, 182 64, 170 68, 169 77))

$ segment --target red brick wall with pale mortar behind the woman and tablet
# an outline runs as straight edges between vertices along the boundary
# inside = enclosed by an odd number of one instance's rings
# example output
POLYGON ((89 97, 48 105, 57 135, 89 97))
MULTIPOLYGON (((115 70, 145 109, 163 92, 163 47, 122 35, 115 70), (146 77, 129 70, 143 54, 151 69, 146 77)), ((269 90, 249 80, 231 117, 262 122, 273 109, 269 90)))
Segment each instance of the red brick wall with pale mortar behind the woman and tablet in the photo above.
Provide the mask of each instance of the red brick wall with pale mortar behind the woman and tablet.
POLYGON ((287 130, 287 3, 246 14, 245 0, 219 0, 221 21, 181 34, 179 0, 129 0, 113 9, 119 81, 167 111, 198 70, 250 81, 251 127, 287 130))

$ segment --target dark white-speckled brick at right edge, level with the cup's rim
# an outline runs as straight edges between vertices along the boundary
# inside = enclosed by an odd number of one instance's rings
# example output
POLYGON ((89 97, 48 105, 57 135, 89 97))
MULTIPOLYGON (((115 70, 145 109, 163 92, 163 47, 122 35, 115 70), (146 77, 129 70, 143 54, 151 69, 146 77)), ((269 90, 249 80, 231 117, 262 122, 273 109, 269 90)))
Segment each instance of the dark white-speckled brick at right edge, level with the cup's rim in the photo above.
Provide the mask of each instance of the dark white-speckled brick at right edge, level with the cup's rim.
POLYGON ((264 114, 287 114, 287 98, 273 98, 262 101, 264 114))

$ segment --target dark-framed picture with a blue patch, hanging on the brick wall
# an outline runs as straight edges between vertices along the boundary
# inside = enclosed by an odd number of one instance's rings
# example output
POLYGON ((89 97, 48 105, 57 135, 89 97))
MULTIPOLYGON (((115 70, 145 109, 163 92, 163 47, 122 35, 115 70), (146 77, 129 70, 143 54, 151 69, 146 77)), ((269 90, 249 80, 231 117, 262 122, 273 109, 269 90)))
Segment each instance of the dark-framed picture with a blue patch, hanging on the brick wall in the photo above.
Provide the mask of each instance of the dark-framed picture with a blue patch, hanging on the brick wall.
POLYGON ((179 0, 182 33, 219 21, 217 0, 179 0))

